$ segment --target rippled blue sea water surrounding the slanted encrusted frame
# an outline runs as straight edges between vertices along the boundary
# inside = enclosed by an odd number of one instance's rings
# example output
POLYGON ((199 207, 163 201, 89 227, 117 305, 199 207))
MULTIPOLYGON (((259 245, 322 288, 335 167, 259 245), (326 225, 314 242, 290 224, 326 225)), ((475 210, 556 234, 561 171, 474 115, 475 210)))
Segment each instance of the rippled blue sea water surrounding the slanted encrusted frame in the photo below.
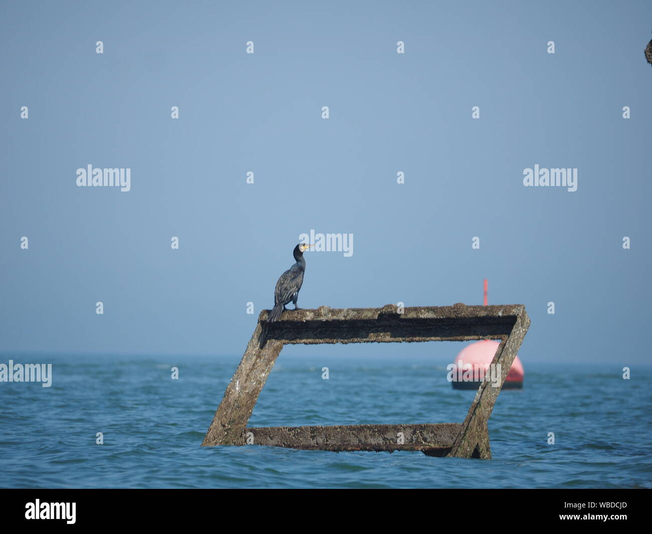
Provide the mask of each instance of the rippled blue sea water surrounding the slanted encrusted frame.
MULTIPOLYGON (((501 391, 489 420, 493 459, 462 460, 202 448, 240 357, 5 355, 0 363, 10 358, 52 363, 53 381, 0 383, 3 488, 652 487, 649 367, 623 380, 617 364, 524 362, 524 389, 501 391)), ((475 391, 453 390, 445 366, 282 353, 249 426, 462 422, 475 391)))

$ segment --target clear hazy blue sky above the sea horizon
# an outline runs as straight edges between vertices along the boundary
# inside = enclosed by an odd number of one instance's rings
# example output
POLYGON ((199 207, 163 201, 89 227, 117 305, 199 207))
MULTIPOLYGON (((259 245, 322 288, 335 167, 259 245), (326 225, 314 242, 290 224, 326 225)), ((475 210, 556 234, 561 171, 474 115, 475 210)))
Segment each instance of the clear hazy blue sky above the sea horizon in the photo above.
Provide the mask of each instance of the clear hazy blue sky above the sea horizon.
POLYGON ((651 30, 647 1, 3 0, 0 353, 242 354, 313 230, 353 253, 306 252, 303 308, 487 278, 522 360, 649 363, 651 30))

